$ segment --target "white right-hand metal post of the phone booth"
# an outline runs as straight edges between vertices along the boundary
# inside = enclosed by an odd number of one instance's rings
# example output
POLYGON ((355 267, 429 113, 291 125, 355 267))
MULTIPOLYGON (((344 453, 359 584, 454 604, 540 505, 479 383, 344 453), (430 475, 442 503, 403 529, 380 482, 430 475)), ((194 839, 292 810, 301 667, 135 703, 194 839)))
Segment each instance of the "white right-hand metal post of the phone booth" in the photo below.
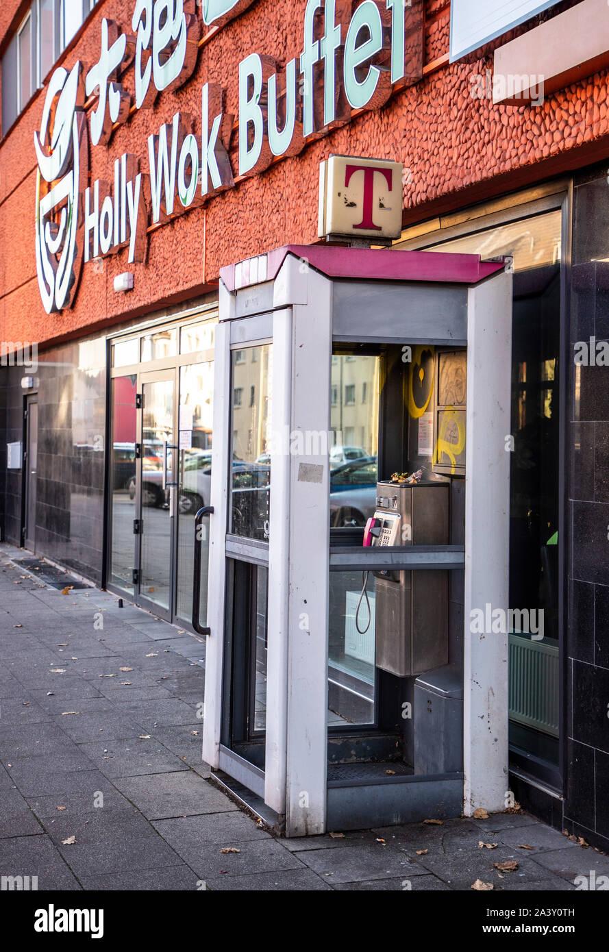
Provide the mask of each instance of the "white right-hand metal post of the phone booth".
POLYGON ((508 783, 507 631, 473 633, 472 611, 509 605, 512 276, 468 294, 465 450, 463 813, 504 810, 508 783))

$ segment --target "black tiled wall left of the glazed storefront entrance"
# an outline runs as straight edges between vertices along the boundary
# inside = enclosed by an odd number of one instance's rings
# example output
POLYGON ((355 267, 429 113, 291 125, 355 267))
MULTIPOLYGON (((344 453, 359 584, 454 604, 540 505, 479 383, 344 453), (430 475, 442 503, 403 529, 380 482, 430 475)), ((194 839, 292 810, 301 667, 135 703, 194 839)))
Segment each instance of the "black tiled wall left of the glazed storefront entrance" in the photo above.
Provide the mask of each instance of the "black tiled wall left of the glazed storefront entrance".
MULTIPOLYGON (((102 581, 106 432, 104 338, 54 347, 38 355, 38 479, 36 553, 102 581)), ((31 372, 31 371, 29 371, 31 372)), ((23 437, 20 367, 5 367, 6 443, 23 437)), ((0 391, 1 392, 1 391, 0 391)), ((0 426, 2 404, 0 403, 0 426)), ((20 544, 20 471, 6 473, 5 538, 20 544)))

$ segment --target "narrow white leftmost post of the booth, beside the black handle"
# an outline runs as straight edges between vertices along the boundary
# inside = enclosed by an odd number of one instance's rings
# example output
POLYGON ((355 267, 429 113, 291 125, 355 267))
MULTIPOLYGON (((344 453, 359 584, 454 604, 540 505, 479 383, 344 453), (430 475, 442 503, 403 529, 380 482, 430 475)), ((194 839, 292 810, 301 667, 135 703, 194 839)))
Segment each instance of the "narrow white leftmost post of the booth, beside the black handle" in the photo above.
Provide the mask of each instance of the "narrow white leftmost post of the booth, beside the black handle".
POLYGON ((203 723, 203 759, 218 769, 222 724, 222 672, 225 642, 226 590, 226 461, 230 438, 230 322, 234 298, 220 282, 220 315, 216 327, 213 389, 213 445, 211 449, 209 570, 207 582, 206 694, 203 723))

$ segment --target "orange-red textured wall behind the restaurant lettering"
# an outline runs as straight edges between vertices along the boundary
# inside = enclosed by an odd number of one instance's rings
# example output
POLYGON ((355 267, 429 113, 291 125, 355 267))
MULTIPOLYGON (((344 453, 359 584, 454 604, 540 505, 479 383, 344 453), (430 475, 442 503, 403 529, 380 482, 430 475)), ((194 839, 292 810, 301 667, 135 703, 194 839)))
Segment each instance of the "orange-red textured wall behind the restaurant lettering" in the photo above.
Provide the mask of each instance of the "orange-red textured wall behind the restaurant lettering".
MULTIPOLYGON (((125 30, 133 0, 106 0, 83 35, 64 56, 92 65, 99 55, 102 16, 125 30)), ((559 8, 572 6, 565 3, 559 8)), ((200 50, 197 68, 175 93, 162 93, 153 109, 140 109, 117 129, 108 149, 90 149, 91 181, 112 179, 112 164, 124 151, 147 170, 147 136, 170 122, 177 110, 190 113, 200 129, 201 87, 226 88, 226 111, 238 110, 238 65, 249 52, 267 53, 281 64, 303 45, 304 0, 258 0, 200 50)), ((530 29, 530 24, 526 28, 530 29)), ((511 34, 513 35, 513 34, 511 34)), ((127 251, 85 265, 74 307, 47 315, 40 303, 34 260, 34 129, 40 123, 44 90, 0 144, 0 339, 57 340, 132 314, 186 300, 217 280, 224 265, 287 242, 317 240, 319 163, 330 152, 398 159, 411 172, 404 195, 404 222, 520 188, 609 154, 607 73, 550 96, 540 108, 494 107, 472 98, 471 76, 492 67, 492 48, 449 66, 449 4, 428 0, 422 81, 397 92, 378 112, 308 145, 149 234, 147 261, 128 266, 127 251), (429 69, 430 67, 430 69, 429 69), (135 286, 115 294, 113 278, 133 269, 135 286)), ((133 69, 125 75, 133 91, 133 69)), ((237 168, 233 133, 231 155, 237 168)))

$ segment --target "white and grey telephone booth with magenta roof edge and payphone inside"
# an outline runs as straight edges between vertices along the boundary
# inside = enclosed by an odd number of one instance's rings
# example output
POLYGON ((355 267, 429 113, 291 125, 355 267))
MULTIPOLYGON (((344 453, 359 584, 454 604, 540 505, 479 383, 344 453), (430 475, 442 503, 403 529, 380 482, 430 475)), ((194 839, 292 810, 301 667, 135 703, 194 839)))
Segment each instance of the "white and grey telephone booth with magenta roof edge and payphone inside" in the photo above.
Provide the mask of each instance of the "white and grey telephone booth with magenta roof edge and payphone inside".
POLYGON ((509 260, 220 283, 203 756, 289 837, 505 807, 509 260))

